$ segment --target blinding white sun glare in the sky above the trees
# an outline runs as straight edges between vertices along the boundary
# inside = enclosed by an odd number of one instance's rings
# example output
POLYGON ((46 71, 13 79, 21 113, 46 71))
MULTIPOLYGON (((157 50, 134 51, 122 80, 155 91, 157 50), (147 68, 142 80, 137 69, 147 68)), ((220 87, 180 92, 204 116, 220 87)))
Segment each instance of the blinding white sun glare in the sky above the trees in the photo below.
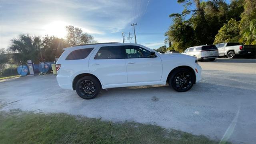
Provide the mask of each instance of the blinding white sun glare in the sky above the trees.
POLYGON ((68 24, 62 21, 54 21, 50 24, 47 24, 44 29, 46 34, 49 36, 57 36, 58 38, 64 38, 67 34, 66 26, 68 24))

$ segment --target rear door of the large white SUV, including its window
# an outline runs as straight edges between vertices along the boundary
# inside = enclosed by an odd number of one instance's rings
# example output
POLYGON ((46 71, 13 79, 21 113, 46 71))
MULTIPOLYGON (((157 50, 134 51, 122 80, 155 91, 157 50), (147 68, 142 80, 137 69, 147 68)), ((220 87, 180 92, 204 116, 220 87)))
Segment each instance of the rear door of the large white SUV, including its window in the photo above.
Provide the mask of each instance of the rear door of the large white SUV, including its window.
POLYGON ((103 85, 127 83, 123 46, 102 46, 89 60, 89 70, 103 85))

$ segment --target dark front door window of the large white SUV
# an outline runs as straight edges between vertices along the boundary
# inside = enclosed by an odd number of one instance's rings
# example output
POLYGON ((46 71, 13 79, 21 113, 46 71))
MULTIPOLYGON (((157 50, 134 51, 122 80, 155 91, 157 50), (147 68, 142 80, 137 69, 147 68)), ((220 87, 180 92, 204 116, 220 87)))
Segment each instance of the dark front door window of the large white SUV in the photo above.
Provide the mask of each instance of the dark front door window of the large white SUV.
POLYGON ((139 46, 124 46, 127 58, 150 58, 150 51, 139 46))

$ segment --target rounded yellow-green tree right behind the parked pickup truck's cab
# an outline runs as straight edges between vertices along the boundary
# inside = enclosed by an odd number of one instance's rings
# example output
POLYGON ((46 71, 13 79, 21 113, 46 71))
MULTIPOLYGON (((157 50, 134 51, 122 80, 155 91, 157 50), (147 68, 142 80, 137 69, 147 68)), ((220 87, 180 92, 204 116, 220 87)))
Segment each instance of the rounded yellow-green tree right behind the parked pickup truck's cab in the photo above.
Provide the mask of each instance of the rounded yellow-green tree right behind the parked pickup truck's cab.
POLYGON ((239 40, 239 22, 233 18, 220 28, 218 34, 215 36, 214 44, 223 42, 238 42, 239 40))

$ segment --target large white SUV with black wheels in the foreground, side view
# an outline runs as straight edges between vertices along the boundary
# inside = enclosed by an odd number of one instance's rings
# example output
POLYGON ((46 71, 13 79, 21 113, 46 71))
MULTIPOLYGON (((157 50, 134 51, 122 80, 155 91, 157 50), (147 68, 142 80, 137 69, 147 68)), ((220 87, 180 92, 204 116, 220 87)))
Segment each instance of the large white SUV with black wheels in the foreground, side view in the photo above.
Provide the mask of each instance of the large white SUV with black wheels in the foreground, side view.
POLYGON ((61 88, 92 99, 101 89, 169 83, 185 92, 201 80, 193 56, 159 54, 140 44, 99 43, 64 48, 56 63, 61 88))

